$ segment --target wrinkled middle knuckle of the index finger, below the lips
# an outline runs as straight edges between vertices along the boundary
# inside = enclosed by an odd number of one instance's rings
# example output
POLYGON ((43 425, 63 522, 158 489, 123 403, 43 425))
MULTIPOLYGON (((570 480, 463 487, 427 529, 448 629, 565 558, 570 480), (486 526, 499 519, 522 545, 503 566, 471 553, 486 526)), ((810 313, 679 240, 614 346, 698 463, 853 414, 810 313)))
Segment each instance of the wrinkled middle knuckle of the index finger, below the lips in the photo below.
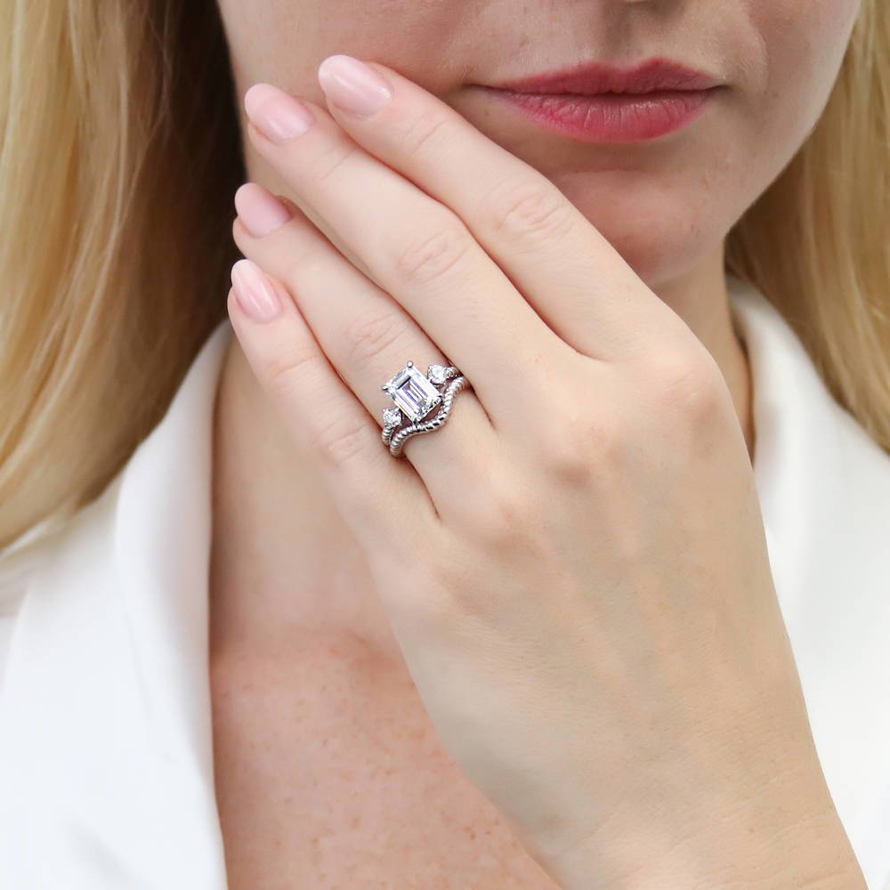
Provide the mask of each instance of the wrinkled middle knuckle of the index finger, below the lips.
POLYGON ((572 208, 562 192, 547 182, 501 182, 483 202, 492 231, 511 239, 553 238, 567 231, 572 208))

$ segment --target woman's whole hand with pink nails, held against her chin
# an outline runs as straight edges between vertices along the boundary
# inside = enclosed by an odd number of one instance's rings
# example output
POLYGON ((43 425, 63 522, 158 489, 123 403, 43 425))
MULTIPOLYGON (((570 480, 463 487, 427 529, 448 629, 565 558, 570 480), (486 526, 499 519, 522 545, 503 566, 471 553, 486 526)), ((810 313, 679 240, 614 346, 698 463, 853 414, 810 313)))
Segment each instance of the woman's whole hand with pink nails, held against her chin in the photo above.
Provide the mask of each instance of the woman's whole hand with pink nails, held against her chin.
POLYGON ((862 886, 715 360, 544 176, 372 67, 388 101, 334 57, 299 134, 248 91, 294 215, 239 190, 229 312, 442 740, 562 886, 862 886), (397 458, 408 360, 471 385, 397 458))

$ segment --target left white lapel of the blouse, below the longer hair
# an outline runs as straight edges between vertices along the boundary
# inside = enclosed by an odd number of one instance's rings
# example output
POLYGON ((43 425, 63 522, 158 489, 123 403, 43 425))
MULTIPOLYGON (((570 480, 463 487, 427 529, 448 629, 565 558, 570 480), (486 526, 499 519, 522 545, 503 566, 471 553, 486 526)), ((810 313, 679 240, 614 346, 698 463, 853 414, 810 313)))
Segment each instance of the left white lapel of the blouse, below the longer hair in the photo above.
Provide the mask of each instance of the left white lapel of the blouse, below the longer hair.
POLYGON ((0 700, 9 886, 226 886, 206 594, 232 334, 214 329, 165 417, 31 563, 0 700))

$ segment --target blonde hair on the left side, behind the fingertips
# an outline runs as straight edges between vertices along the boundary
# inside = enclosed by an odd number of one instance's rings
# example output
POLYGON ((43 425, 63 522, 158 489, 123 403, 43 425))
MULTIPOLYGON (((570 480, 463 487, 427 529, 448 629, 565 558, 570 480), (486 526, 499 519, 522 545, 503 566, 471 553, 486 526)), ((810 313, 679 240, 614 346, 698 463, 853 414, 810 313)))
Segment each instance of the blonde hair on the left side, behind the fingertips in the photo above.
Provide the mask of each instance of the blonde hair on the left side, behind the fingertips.
POLYGON ((214 0, 0 2, 0 547, 101 493, 226 316, 236 109, 214 0))

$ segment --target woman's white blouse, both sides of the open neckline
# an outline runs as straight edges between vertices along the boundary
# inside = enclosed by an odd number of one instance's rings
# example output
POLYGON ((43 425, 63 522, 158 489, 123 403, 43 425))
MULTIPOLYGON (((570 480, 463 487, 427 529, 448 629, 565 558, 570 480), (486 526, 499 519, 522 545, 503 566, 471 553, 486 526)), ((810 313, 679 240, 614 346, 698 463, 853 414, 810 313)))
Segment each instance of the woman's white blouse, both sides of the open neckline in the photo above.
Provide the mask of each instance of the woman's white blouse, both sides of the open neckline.
MULTIPOLYGON (((813 739, 870 890, 890 890, 890 456, 727 278, 754 472, 813 739)), ((0 552, 0 886, 224 890, 207 576, 223 320, 165 417, 33 554, 0 552)))

